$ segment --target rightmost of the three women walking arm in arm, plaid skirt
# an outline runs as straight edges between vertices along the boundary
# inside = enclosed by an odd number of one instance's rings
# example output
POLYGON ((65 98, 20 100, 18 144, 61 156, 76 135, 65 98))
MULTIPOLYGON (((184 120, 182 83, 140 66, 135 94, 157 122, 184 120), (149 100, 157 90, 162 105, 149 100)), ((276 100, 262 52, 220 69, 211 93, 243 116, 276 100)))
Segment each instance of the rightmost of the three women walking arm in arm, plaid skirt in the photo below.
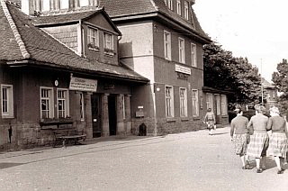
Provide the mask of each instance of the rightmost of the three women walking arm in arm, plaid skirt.
POLYGON ((284 158, 287 152, 286 122, 280 116, 279 109, 275 106, 270 109, 270 115, 271 117, 267 124, 267 130, 272 130, 269 145, 275 156, 278 168, 277 174, 282 174, 284 172, 284 158))

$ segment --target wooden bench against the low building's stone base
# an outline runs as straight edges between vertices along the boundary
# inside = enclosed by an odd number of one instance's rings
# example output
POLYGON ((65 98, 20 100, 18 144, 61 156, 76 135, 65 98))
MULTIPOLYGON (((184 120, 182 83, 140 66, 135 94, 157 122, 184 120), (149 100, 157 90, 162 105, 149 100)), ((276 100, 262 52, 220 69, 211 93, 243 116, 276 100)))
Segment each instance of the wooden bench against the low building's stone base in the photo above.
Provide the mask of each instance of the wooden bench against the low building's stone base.
POLYGON ((61 143, 63 147, 66 147, 68 141, 74 141, 75 144, 81 144, 79 140, 85 141, 86 134, 83 131, 77 131, 75 128, 60 128, 53 130, 54 145, 56 147, 58 143, 61 143))

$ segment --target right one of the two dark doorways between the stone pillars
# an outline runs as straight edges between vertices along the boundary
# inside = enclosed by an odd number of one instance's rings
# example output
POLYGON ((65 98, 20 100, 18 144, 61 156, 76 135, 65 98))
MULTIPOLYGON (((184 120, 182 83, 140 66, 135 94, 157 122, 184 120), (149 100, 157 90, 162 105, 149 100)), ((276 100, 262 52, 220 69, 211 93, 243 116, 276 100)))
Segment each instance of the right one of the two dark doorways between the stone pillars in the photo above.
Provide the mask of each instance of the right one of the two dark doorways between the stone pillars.
POLYGON ((116 115, 116 96, 108 96, 108 111, 109 111, 109 133, 116 135, 117 115, 116 115))

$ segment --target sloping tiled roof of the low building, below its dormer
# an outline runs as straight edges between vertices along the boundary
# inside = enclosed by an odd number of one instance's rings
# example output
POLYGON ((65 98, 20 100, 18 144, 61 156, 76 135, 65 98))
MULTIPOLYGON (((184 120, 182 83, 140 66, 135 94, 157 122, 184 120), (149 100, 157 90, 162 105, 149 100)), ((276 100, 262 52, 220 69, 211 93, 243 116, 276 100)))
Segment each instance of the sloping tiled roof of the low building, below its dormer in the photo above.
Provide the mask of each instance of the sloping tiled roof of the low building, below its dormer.
POLYGON ((30 66, 65 68, 105 77, 148 82, 147 78, 129 68, 78 56, 75 51, 35 27, 31 23, 31 17, 14 5, 0 1, 0 60, 11 65, 25 62, 30 66), (6 14, 10 17, 7 18, 6 14))

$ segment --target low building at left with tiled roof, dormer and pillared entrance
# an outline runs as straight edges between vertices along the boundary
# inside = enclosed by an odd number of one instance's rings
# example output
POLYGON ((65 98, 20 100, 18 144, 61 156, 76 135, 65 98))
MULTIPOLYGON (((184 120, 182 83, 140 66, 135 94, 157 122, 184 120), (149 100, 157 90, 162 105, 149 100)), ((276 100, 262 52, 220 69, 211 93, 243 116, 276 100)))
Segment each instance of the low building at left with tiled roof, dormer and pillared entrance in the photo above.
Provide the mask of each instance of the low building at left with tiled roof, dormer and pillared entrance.
POLYGON ((119 63, 121 32, 96 1, 45 2, 1 0, 1 149, 51 144, 58 126, 130 134, 131 89, 148 79, 119 63))

